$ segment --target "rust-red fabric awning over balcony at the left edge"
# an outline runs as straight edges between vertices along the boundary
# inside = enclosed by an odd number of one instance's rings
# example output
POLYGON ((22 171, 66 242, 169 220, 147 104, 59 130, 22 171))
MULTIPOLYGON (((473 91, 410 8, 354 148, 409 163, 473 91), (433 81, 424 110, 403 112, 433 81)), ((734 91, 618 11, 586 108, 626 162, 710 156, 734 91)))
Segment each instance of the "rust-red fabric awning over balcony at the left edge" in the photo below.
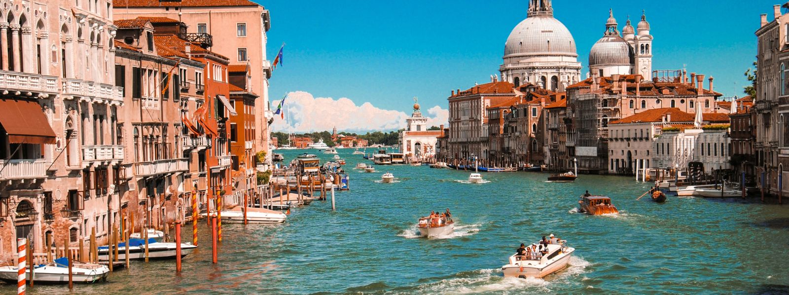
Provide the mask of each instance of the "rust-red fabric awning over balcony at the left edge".
POLYGON ((0 98, 0 124, 11 143, 55 143, 54 131, 36 101, 0 98))

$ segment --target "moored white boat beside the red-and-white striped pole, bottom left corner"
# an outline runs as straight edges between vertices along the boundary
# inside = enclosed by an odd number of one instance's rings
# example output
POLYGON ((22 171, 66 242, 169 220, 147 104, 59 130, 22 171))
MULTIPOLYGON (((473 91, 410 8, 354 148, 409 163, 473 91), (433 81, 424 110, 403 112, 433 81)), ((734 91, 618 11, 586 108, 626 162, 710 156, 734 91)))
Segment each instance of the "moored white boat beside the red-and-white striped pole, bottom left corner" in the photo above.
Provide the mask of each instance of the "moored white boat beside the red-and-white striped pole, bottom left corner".
MULTIPOLYGON (((36 283, 47 284, 68 284, 69 283, 69 259, 60 257, 53 260, 50 264, 28 265, 34 267, 33 281, 36 283)), ((8 283, 17 282, 17 271, 19 267, 6 266, 0 267, 0 280, 8 283)), ((71 279, 75 283, 103 282, 110 274, 110 268, 100 264, 88 264, 73 260, 71 265, 71 279)), ((30 280, 29 270, 27 275, 30 280)))

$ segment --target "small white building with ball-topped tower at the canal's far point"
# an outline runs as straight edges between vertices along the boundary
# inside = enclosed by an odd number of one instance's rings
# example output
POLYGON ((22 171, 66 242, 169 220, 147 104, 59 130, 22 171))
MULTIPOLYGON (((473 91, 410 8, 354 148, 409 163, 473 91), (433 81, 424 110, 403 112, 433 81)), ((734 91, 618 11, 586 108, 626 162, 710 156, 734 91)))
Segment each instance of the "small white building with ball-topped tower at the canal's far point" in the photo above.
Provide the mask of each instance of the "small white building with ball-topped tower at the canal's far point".
MULTIPOLYGON (((414 98, 416 100, 416 98, 414 98)), ((441 135, 439 130, 428 131, 428 118, 422 116, 419 103, 414 102, 411 117, 406 119, 406 130, 400 131, 398 143, 400 153, 413 160, 428 160, 436 157, 436 142, 441 135)))

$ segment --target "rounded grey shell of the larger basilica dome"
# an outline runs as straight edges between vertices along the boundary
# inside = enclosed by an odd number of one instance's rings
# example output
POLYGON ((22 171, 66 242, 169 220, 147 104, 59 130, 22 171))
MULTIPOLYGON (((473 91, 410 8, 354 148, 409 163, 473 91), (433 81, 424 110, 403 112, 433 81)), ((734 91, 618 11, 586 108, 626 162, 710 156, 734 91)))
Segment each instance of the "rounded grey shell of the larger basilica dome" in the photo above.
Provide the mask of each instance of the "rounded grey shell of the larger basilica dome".
POLYGON ((504 57, 570 55, 578 57, 570 30, 550 15, 526 17, 515 26, 504 46, 504 57))

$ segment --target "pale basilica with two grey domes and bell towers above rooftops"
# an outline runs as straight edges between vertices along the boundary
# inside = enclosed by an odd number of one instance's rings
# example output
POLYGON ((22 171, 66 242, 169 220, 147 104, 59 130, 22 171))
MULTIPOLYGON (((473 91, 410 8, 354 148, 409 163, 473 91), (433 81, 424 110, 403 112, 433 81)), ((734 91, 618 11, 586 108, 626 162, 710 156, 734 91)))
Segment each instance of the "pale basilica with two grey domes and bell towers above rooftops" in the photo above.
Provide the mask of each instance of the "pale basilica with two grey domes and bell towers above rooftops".
MULTIPOLYGON (((638 32, 627 20, 623 35, 609 11, 606 30, 589 52, 591 76, 639 74, 652 79, 652 35, 644 15, 638 32)), ((553 17, 551 0, 529 0, 526 19, 510 32, 504 46, 502 79, 516 87, 533 83, 544 89, 564 91, 581 79, 575 40, 570 30, 553 17)))

